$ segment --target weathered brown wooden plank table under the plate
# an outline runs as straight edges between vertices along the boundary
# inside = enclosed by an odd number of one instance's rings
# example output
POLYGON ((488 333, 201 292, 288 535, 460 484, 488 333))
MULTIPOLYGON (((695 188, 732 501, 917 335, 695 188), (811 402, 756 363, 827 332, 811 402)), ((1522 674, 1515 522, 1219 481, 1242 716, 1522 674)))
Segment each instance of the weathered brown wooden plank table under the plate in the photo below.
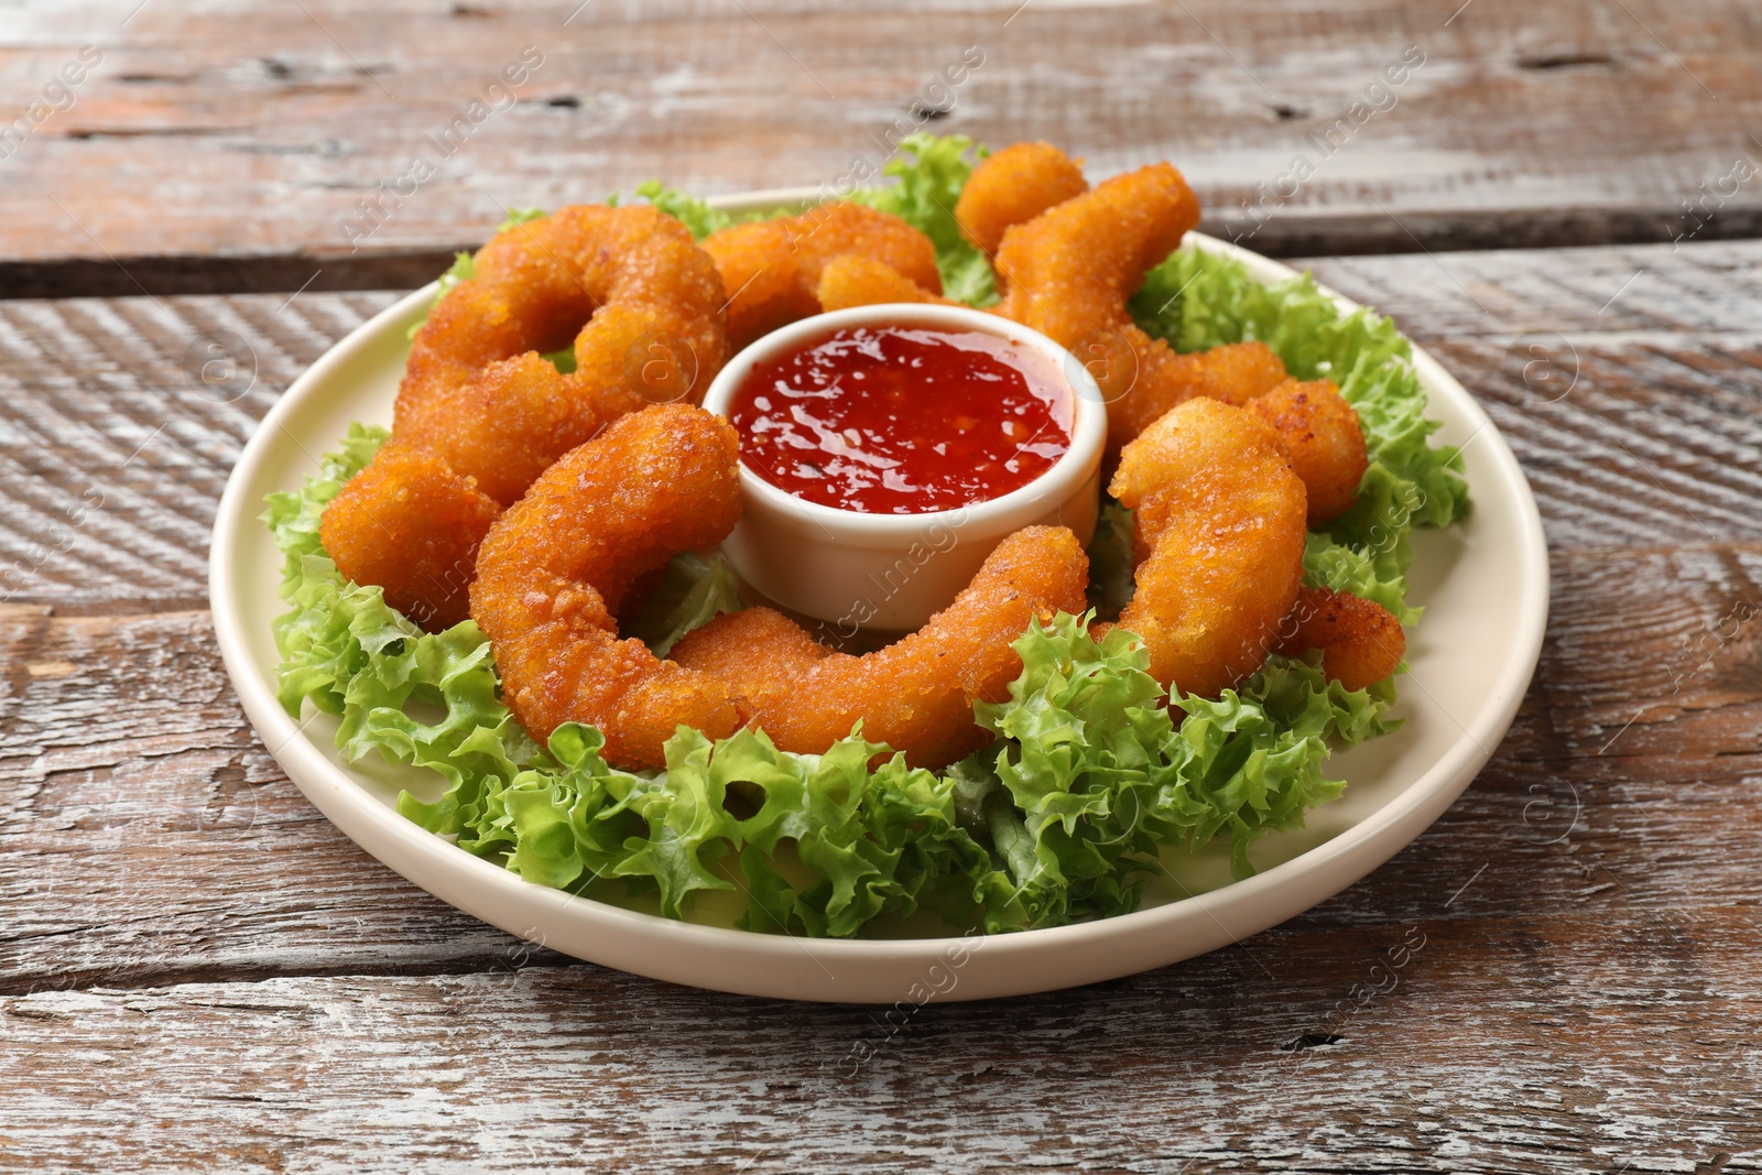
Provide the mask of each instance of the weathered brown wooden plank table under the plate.
POLYGON ((0 1170, 1762 1170, 1753 5, 26 0, 0 42, 0 1170), (204 611, 261 414, 504 206, 916 123, 1173 159, 1475 391, 1554 574, 1492 763, 1237 948, 904 1025, 537 951, 359 853, 204 611), (192 375, 217 340, 254 382, 192 375))

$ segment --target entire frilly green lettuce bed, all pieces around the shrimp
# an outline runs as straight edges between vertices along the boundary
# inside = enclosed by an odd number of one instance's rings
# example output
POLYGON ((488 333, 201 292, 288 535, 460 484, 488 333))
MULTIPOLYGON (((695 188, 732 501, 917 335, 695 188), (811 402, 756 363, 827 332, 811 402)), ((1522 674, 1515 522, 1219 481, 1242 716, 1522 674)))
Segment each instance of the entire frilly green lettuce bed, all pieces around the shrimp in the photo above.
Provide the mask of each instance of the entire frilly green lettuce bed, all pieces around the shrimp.
MULTIPOLYGON (((911 136, 895 185, 855 197, 897 211, 937 243, 943 278, 967 301, 996 298, 990 268, 951 208, 981 148, 911 136), (981 273, 983 270, 983 273, 981 273)), ((694 233, 729 218, 661 185, 638 194, 694 233)), ((470 275, 469 255, 455 278, 470 275)), ((1462 516, 1466 488, 1448 449, 1425 437, 1424 391, 1408 344, 1381 317, 1343 319, 1307 278, 1262 287, 1235 262, 1181 252, 1152 271, 1138 321, 1181 349, 1263 338, 1300 377, 1329 375, 1359 405, 1374 458, 1366 500, 1313 534, 1313 581, 1360 592, 1403 615, 1413 525, 1462 516)), ((435 800, 398 810, 462 849, 536 883, 691 918, 710 891, 738 897, 738 925, 855 935, 876 920, 930 911, 953 928, 1059 925, 1136 907, 1166 853, 1226 837, 1232 872, 1249 847, 1344 787, 1323 773, 1330 745, 1394 726, 1392 682, 1348 692, 1313 661, 1274 655, 1218 699, 1166 705, 1128 632, 1089 638, 1057 615, 1017 641, 1008 699, 974 706, 996 736, 946 772, 907 768, 858 726, 825 754, 779 750, 763 731, 710 740, 680 729, 666 770, 624 772, 603 738, 566 724, 541 747, 500 701, 488 641, 472 622, 423 632, 375 587, 349 583, 324 555, 324 504, 372 460, 384 430, 349 430, 337 453, 264 521, 285 555, 275 622, 280 701, 338 715, 349 759, 374 752, 432 768, 435 800)), ((1092 544, 1091 599, 1112 615, 1129 599, 1129 513, 1107 504, 1092 544)), ((721 557, 668 569, 638 634, 664 655, 721 611, 740 608, 721 557)))

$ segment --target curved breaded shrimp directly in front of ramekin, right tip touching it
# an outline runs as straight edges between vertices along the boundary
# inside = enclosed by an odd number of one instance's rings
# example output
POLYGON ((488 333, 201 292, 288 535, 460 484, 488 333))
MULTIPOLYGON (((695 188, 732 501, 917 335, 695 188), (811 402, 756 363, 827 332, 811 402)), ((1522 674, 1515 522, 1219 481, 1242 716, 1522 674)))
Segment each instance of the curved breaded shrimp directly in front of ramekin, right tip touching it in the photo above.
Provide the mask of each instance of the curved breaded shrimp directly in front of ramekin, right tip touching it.
POLYGON ((973 701, 1001 701, 1022 671, 1011 643, 1034 617, 1078 613, 1089 558, 1064 527, 1029 527, 920 631, 863 657, 832 652, 770 608, 717 617, 673 647, 682 666, 745 694, 752 724, 784 750, 819 754, 858 722, 913 766, 944 766, 990 735, 973 701))

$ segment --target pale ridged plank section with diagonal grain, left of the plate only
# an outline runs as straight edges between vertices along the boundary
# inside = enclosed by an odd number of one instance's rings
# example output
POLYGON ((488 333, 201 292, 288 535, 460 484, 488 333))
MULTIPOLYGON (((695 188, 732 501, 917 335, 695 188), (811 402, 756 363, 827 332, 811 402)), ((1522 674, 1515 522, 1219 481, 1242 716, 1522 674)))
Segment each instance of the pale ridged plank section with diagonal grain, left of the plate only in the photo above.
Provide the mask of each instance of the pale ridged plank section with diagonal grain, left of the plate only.
POLYGON ((4 303, 0 597, 204 606, 213 513, 247 437, 391 298, 4 303))

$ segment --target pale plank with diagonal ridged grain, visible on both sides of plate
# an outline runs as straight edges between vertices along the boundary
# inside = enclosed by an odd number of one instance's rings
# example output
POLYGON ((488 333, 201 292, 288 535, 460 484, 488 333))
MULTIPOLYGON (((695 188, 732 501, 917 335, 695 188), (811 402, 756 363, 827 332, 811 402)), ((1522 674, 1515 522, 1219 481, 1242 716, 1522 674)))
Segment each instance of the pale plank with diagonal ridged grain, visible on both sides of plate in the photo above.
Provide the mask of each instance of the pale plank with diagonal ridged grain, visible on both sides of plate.
MULTIPOLYGON (((1762 539, 1762 245, 1313 266, 1482 398, 1556 546, 1762 539)), ((62 613, 199 608, 245 437, 389 298, 0 301, 0 595, 62 613), (204 384, 210 344, 255 382, 204 384)))

